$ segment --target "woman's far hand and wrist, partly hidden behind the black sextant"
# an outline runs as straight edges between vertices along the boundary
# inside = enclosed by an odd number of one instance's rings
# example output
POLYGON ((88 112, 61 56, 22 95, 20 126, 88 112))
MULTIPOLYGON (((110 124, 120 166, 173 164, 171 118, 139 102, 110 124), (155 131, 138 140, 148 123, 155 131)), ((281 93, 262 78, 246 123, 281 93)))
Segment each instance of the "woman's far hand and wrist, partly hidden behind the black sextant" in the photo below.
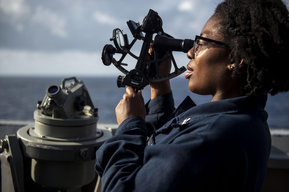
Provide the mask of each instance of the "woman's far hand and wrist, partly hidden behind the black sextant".
MULTIPOLYGON (((152 53, 153 53, 153 44, 151 43, 149 47, 149 54, 152 53)), ((167 51, 163 57, 168 56, 168 54, 169 52, 167 51)), ((160 76, 170 74, 171 66, 172 66, 171 59, 166 59, 160 62, 159 64, 160 76)), ((155 97, 159 97, 171 92, 170 80, 151 82, 149 86, 151 87, 151 99, 154 99, 155 97)))

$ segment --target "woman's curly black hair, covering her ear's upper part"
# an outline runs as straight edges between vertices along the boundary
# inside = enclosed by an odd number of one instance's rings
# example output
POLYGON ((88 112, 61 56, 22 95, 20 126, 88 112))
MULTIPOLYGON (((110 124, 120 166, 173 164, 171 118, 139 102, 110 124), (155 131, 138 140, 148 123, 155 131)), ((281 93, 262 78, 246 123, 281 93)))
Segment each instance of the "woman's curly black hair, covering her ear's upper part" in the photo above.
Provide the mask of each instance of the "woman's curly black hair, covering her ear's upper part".
POLYGON ((233 77, 243 75, 244 95, 289 91, 289 12, 281 0, 225 0, 214 13, 231 48, 233 77))

